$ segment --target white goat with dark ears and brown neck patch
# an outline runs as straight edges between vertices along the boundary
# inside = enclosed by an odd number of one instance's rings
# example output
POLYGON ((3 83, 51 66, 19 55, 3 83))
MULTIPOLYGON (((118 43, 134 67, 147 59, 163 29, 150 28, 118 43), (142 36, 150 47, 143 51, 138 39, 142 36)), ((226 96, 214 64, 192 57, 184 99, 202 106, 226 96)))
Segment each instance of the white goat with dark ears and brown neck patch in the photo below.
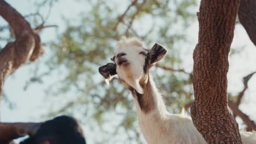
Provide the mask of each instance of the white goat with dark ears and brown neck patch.
MULTIPOLYGON (((136 105, 140 128, 148 143, 207 143, 194 127, 191 118, 166 110, 164 100, 149 69, 166 55, 164 47, 155 44, 152 50, 144 49, 135 38, 121 39, 112 60, 99 68, 105 79, 118 75, 131 91, 136 105)), ((255 133, 242 132, 243 143, 256 143, 255 133)))

